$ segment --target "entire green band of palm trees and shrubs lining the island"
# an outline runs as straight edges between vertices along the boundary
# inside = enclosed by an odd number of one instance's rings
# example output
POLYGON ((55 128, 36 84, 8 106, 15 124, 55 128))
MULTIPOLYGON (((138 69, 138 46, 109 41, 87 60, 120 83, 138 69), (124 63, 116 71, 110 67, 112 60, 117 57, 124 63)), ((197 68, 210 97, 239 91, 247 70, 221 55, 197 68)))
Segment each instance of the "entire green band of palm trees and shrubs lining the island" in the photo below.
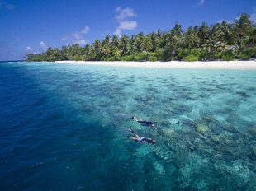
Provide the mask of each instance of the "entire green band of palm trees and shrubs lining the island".
POLYGON ((250 16, 243 13, 234 23, 222 21, 212 26, 190 26, 183 31, 176 23, 172 30, 144 35, 107 35, 102 42, 92 45, 78 44, 49 48, 42 54, 27 54, 27 61, 55 60, 234 60, 256 57, 256 26, 250 16))

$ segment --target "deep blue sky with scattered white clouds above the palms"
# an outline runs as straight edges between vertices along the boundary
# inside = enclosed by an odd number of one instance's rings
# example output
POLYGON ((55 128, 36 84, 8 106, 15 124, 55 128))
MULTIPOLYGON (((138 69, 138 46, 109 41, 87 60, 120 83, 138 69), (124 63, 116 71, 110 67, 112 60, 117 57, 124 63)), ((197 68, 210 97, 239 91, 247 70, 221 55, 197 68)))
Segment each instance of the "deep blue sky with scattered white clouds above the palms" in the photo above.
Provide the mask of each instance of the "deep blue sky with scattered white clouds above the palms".
POLYGON ((179 22, 234 21, 241 13, 256 22, 255 0, 0 0, 0 61, 66 44, 93 44, 106 35, 167 31, 179 22))

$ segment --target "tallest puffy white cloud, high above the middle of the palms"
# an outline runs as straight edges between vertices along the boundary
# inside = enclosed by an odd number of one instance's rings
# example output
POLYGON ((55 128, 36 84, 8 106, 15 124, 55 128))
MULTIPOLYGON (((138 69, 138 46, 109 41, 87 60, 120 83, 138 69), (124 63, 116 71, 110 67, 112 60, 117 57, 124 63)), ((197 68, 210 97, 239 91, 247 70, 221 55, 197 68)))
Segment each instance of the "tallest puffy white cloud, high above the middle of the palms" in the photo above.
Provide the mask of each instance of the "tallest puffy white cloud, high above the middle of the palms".
POLYGON ((137 16, 134 10, 130 7, 126 7, 124 9, 117 7, 115 12, 118 12, 116 20, 119 22, 119 26, 116 28, 114 35, 121 36, 121 30, 135 30, 135 28, 138 26, 136 21, 128 20, 130 17, 137 16))

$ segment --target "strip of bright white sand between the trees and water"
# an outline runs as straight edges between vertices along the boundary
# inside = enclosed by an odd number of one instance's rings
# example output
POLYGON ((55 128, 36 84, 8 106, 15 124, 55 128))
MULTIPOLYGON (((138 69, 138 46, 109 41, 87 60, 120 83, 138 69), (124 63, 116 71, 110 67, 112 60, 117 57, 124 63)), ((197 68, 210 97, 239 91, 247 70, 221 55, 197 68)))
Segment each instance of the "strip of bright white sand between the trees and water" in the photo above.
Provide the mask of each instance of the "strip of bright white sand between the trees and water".
POLYGON ((246 69, 256 70, 256 61, 213 61, 213 62, 102 62, 102 61, 55 61, 102 66, 140 67, 140 68, 204 68, 204 69, 246 69))

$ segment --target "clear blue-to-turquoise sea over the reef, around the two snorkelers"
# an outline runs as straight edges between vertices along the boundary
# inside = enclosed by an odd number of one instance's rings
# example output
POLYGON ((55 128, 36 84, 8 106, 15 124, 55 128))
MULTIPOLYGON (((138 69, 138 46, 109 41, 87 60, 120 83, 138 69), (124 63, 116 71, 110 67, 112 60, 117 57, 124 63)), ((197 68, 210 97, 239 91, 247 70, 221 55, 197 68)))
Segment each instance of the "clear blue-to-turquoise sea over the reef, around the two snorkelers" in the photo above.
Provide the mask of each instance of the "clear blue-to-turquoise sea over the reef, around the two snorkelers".
POLYGON ((0 190, 255 190, 255 84, 249 70, 0 63, 0 190))

